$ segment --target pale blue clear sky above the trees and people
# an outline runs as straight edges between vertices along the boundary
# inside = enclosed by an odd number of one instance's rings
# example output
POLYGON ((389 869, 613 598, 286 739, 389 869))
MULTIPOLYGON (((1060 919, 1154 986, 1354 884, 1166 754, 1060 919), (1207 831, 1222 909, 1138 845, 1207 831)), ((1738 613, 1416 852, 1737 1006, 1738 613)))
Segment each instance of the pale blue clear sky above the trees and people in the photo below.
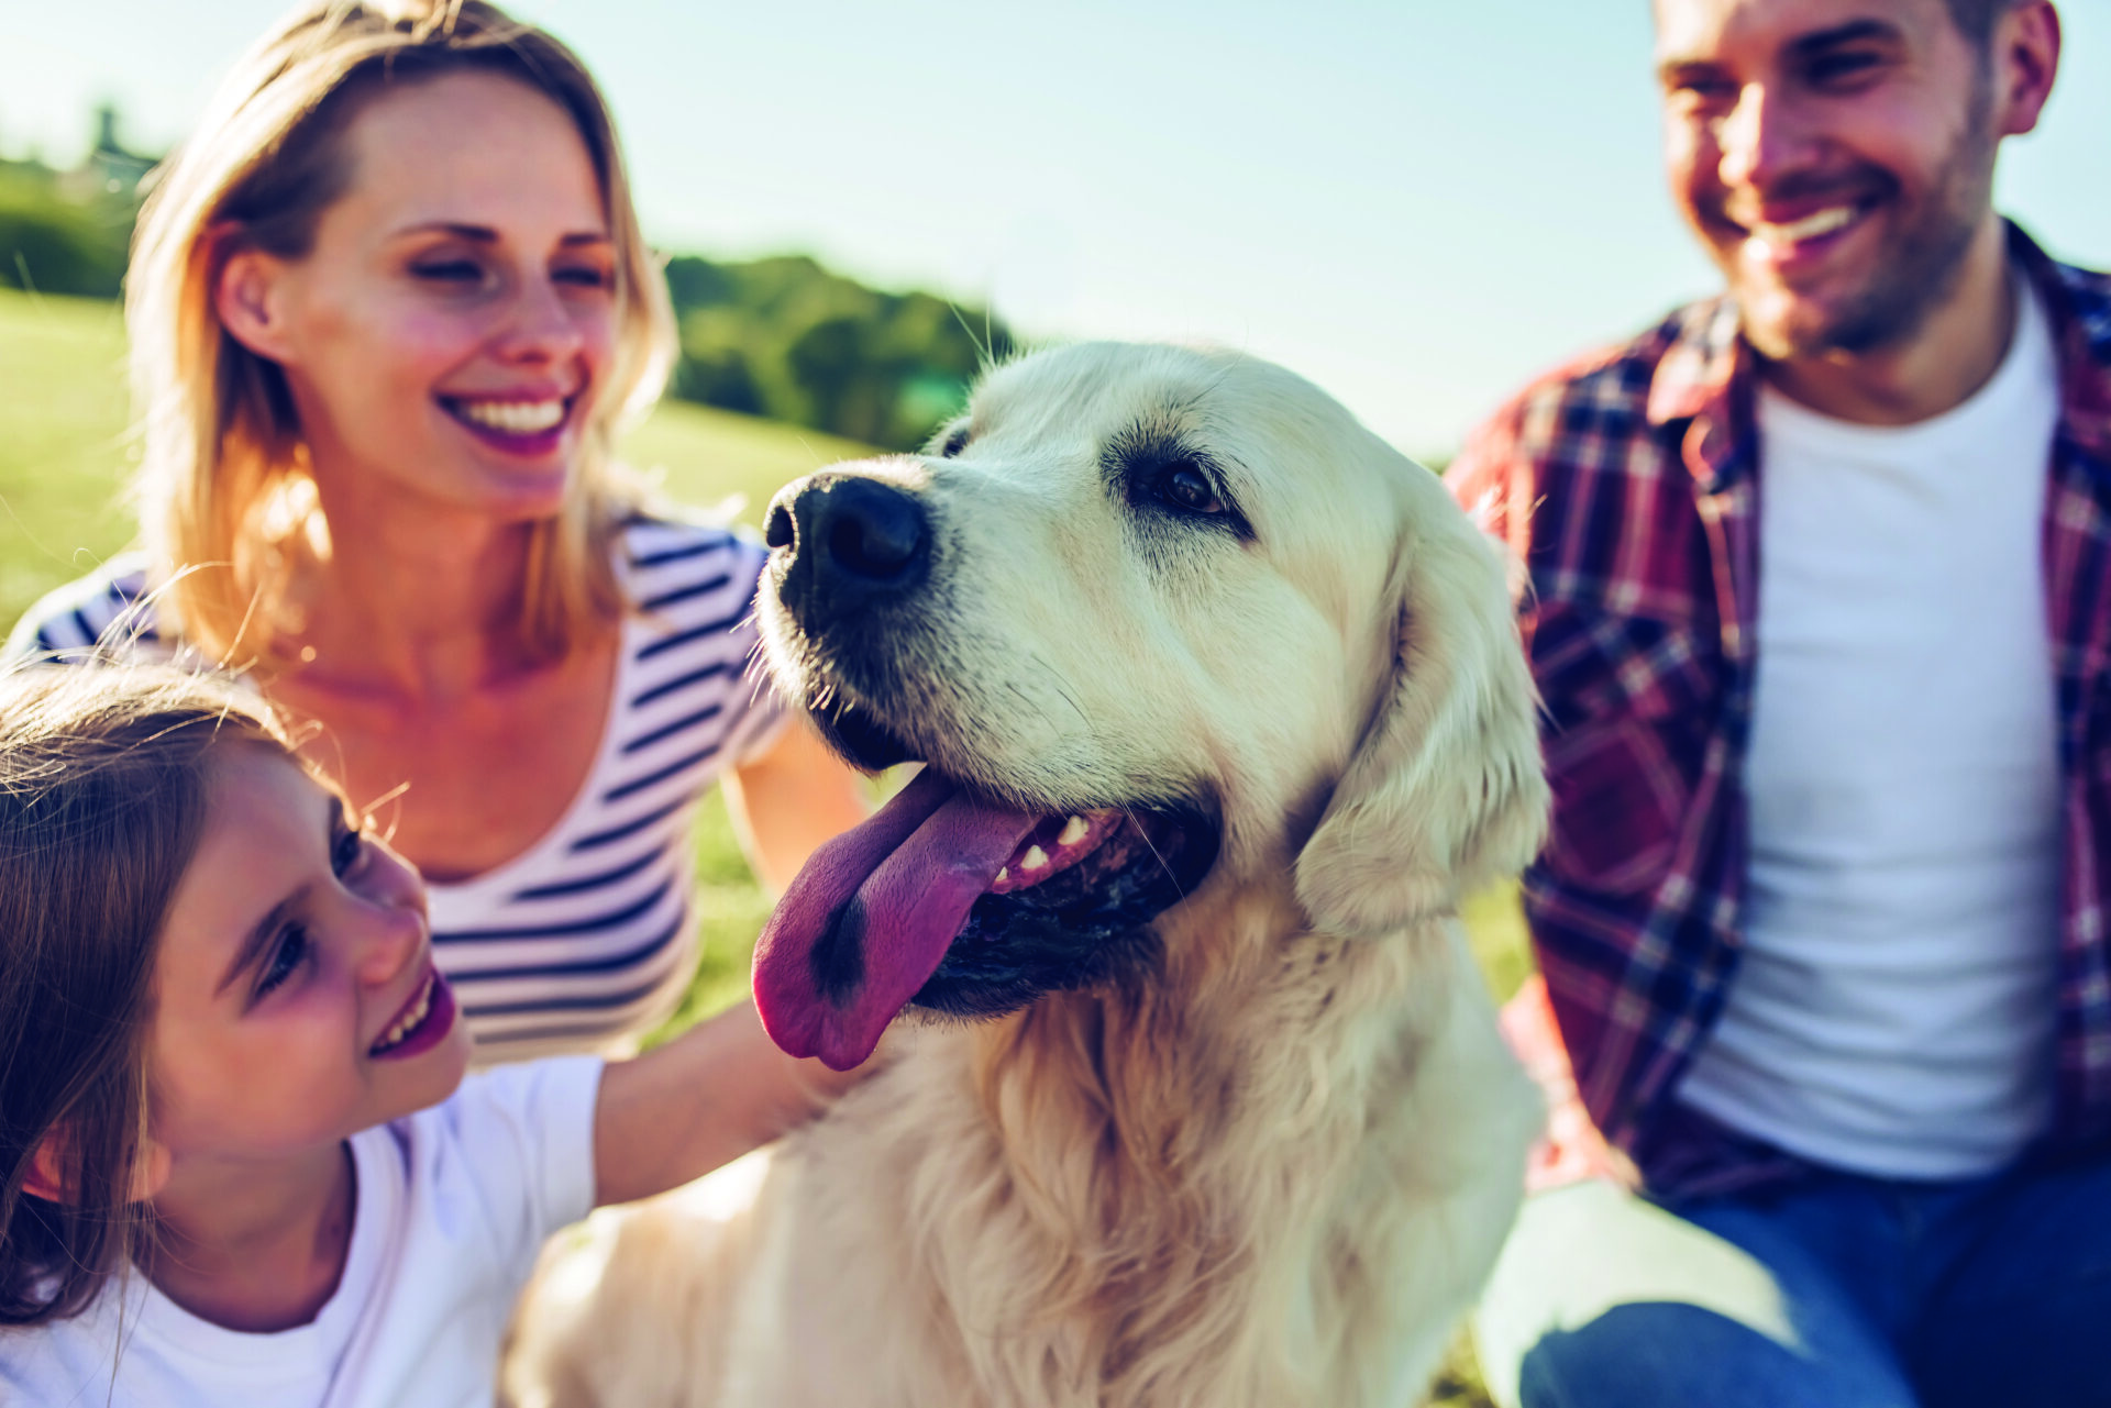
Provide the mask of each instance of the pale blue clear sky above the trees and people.
MULTIPOLYGON (((182 137, 283 0, 0 0, 0 152, 182 137)), ((806 251, 1028 338, 1216 342, 1442 456, 1714 270, 1657 163, 1647 0, 519 0, 600 76, 646 234, 806 251)), ((1997 203, 2111 266, 2111 0, 1997 203)))

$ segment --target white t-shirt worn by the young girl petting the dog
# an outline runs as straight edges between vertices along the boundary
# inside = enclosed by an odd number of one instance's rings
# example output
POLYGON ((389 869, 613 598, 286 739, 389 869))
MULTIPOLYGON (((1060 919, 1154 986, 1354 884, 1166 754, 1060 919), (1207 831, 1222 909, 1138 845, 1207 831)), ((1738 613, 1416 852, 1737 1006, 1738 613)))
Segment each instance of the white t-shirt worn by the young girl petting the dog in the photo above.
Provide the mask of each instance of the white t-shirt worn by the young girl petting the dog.
POLYGON ((224 1330, 131 1275, 122 1326, 106 1292, 74 1319, 0 1330, 0 1404, 490 1408, 543 1241, 593 1207, 600 1081, 587 1055, 502 1066, 355 1134, 344 1275, 310 1324, 224 1330))

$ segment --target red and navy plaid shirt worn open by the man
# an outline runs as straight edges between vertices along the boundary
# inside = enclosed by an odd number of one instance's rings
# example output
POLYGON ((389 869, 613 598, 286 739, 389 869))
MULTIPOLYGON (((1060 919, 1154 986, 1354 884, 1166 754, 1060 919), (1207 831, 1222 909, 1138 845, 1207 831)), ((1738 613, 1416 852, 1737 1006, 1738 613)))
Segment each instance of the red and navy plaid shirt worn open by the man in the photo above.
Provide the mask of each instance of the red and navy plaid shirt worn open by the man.
MULTIPOLYGON (((2058 697, 2060 994, 2048 1142, 2111 1136, 2111 277, 2012 258, 2052 317, 2043 528, 2058 697)), ((1754 359, 1727 298, 1516 397, 1446 475, 1522 559, 1554 827, 1524 876, 1547 1007, 1590 1119, 1661 1195, 1801 1165, 1670 1096, 1723 1011, 1746 893, 1761 564, 1754 359)))

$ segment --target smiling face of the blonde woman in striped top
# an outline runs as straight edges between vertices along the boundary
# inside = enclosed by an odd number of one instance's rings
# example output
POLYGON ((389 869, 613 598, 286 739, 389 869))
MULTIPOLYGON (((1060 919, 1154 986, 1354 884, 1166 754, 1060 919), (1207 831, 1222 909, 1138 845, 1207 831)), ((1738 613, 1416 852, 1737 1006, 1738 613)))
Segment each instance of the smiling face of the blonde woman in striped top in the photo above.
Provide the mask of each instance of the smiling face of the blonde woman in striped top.
POLYGON ((293 391, 331 521, 564 500, 616 331, 616 249, 578 127, 496 74, 384 91, 300 260, 239 253, 228 331, 293 391))

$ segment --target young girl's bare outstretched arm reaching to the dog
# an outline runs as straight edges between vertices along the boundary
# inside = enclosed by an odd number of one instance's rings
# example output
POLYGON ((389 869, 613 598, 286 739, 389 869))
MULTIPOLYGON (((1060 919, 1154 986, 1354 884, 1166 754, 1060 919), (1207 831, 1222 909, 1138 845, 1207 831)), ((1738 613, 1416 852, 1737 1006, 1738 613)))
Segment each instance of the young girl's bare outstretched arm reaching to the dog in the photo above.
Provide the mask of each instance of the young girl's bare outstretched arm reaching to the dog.
POLYGON ((834 1072, 785 1055, 754 1003, 638 1060, 610 1062, 593 1108, 593 1203, 627 1203, 703 1178, 804 1123, 874 1064, 834 1072))

